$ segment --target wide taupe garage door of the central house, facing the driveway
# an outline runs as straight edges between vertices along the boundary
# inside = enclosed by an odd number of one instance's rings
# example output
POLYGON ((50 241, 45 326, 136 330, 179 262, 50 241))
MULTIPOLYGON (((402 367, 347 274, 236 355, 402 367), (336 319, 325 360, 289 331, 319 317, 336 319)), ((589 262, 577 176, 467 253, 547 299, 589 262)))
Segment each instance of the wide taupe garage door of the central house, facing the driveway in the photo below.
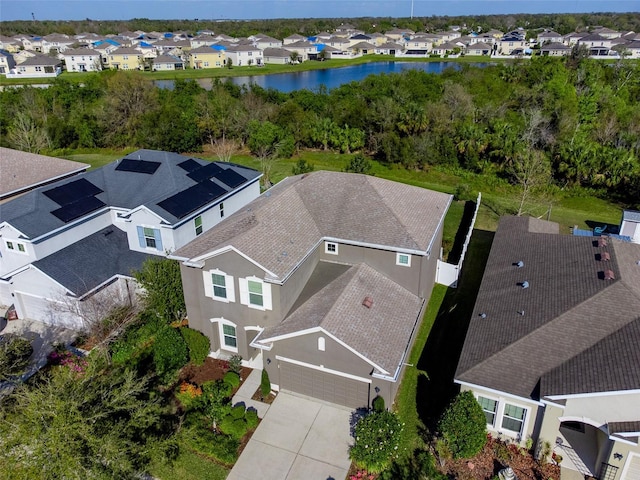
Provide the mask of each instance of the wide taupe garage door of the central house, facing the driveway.
POLYGON ((352 408, 369 405, 367 382, 278 361, 280 388, 352 408))

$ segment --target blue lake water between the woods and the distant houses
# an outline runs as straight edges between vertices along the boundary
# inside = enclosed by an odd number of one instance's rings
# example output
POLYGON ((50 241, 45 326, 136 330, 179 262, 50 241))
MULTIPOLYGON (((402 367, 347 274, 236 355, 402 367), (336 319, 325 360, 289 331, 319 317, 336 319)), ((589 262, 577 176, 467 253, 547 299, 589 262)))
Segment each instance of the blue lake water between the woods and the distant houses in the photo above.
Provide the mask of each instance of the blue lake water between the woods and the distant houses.
MULTIPOLYGON (((475 67, 485 67, 487 63, 470 64, 475 67)), ((427 73, 442 73, 447 68, 462 68, 462 64, 457 62, 372 62, 360 65, 351 65, 340 68, 327 68, 323 70, 308 70, 304 72, 274 73, 270 75, 255 75, 246 77, 229 77, 222 81, 229 81, 236 85, 258 85, 262 88, 274 88, 281 92, 292 92, 294 90, 317 91, 320 85, 327 89, 339 87, 342 84, 358 82, 368 77, 380 73, 401 73, 405 70, 423 70, 427 73)), ((211 89, 212 79, 199 78, 196 82, 206 88, 211 89)), ((173 80, 156 80, 156 85, 161 88, 173 88, 173 80)))

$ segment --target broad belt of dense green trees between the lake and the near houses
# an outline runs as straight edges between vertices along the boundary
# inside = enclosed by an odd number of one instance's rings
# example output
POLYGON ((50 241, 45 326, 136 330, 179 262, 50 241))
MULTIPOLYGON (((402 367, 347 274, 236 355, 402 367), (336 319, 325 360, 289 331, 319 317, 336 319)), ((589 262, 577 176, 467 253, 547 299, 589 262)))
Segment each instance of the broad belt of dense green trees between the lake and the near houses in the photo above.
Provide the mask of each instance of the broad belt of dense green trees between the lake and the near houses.
MULTIPOLYGON (((267 170, 304 149, 364 153, 407 169, 442 166, 517 183, 543 178, 640 198, 640 66, 572 56, 372 75, 282 93, 215 80, 156 87, 102 72, 83 86, 0 93, 0 142, 26 151, 152 148, 220 160, 250 151, 267 170)), ((268 176, 268 175, 267 175, 268 176)))

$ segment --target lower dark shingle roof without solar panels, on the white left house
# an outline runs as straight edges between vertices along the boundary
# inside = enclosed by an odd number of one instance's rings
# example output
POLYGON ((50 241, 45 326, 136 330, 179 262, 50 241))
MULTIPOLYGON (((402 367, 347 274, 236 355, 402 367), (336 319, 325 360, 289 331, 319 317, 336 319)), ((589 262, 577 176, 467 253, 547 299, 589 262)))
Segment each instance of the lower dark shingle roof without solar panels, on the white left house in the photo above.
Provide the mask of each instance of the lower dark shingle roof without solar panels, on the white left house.
POLYGON ((152 257, 130 250, 126 232, 110 225, 32 265, 81 297, 117 275, 131 277, 152 257))

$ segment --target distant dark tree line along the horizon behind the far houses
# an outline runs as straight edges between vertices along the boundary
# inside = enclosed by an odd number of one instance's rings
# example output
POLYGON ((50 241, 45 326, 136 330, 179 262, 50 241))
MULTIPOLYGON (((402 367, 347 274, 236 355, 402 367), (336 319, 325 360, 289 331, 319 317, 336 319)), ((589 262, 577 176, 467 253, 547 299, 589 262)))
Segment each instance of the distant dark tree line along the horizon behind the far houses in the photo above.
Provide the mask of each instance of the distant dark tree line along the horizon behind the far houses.
POLYGON ((305 18, 276 20, 15 20, 2 22, 2 35, 47 35, 63 33, 76 35, 95 32, 100 35, 118 34, 124 31, 197 33, 212 30, 234 37, 248 37, 258 32, 275 38, 284 38, 294 33, 314 35, 322 31, 333 32, 342 24, 349 23, 366 33, 385 32, 394 28, 410 28, 414 32, 437 32, 447 30, 452 25, 463 27, 465 31, 486 32, 492 28, 508 32, 517 27, 527 30, 549 28, 563 35, 585 30, 593 26, 603 26, 620 31, 640 31, 640 14, 629 13, 571 13, 571 14, 513 14, 513 15, 458 15, 430 16, 414 18, 360 17, 360 18, 305 18), (465 27, 466 26, 466 27, 465 27))

